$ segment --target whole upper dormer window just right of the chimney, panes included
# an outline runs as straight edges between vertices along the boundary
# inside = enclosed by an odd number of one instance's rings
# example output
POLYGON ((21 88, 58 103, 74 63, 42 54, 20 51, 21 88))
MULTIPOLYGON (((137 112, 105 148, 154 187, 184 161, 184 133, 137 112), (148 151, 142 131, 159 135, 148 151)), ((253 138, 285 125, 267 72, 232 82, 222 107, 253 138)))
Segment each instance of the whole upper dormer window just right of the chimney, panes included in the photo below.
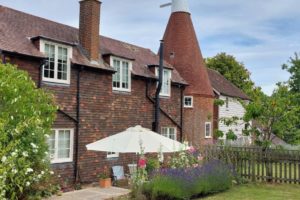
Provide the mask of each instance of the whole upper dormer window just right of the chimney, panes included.
POLYGON ((113 74, 113 90, 130 92, 132 62, 112 56, 110 63, 116 70, 113 74))

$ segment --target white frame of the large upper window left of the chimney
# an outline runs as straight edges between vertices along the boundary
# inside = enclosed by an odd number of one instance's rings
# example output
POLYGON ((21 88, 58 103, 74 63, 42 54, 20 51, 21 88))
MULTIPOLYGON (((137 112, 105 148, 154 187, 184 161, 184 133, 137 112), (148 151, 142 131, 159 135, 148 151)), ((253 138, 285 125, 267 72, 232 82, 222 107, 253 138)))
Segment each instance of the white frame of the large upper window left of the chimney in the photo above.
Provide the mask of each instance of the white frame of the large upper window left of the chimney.
POLYGON ((52 82, 52 83, 61 83, 61 84, 70 84, 71 82, 71 58, 73 55, 73 49, 71 46, 50 42, 47 40, 40 40, 40 51, 45 54, 45 45, 54 45, 55 46, 55 58, 54 58, 54 78, 44 77, 44 65, 42 69, 42 81, 52 82), (66 48, 68 50, 68 58, 67 58, 67 80, 57 79, 57 56, 58 56, 58 47, 66 48))

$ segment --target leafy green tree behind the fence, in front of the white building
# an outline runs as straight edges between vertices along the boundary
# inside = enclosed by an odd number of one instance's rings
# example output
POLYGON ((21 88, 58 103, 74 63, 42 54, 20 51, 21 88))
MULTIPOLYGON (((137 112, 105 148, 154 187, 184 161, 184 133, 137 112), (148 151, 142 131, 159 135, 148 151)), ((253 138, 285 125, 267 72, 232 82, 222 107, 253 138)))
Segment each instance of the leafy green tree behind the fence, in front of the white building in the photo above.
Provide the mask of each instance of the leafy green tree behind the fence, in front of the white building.
MULTIPOLYGON (((289 91, 289 87, 278 84, 276 90, 269 97, 262 95, 259 100, 247 106, 244 120, 255 120, 256 126, 252 126, 246 134, 256 136, 259 145, 268 147, 272 142, 272 134, 284 139, 290 144, 300 142, 299 123, 300 107, 294 103, 296 95, 289 91)), ((250 127, 250 126, 249 126, 250 127)))

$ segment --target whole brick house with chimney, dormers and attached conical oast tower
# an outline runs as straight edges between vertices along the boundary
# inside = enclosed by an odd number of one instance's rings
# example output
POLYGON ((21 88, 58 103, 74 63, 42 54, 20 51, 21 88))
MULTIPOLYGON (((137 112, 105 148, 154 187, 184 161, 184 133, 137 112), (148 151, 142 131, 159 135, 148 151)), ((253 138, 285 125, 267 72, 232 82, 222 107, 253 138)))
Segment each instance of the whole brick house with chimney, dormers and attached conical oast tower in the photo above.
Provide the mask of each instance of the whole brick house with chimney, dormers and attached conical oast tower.
POLYGON ((92 182, 104 166, 134 155, 86 145, 142 125, 178 141, 213 143, 215 98, 187 0, 173 0, 164 39, 160 118, 155 121, 159 56, 99 36, 101 2, 80 1, 79 29, 0 5, 0 56, 54 94, 59 110, 49 138, 53 169, 92 182))

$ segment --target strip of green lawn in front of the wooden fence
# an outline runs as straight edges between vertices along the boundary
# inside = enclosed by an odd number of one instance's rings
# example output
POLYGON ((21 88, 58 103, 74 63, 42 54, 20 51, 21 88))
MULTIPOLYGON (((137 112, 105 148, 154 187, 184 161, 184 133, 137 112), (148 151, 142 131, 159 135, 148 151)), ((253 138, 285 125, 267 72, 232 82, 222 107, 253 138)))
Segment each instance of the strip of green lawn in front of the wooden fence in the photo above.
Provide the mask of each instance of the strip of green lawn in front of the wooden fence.
POLYGON ((300 185, 249 184, 235 186, 232 189, 204 198, 204 200, 298 200, 300 185))

